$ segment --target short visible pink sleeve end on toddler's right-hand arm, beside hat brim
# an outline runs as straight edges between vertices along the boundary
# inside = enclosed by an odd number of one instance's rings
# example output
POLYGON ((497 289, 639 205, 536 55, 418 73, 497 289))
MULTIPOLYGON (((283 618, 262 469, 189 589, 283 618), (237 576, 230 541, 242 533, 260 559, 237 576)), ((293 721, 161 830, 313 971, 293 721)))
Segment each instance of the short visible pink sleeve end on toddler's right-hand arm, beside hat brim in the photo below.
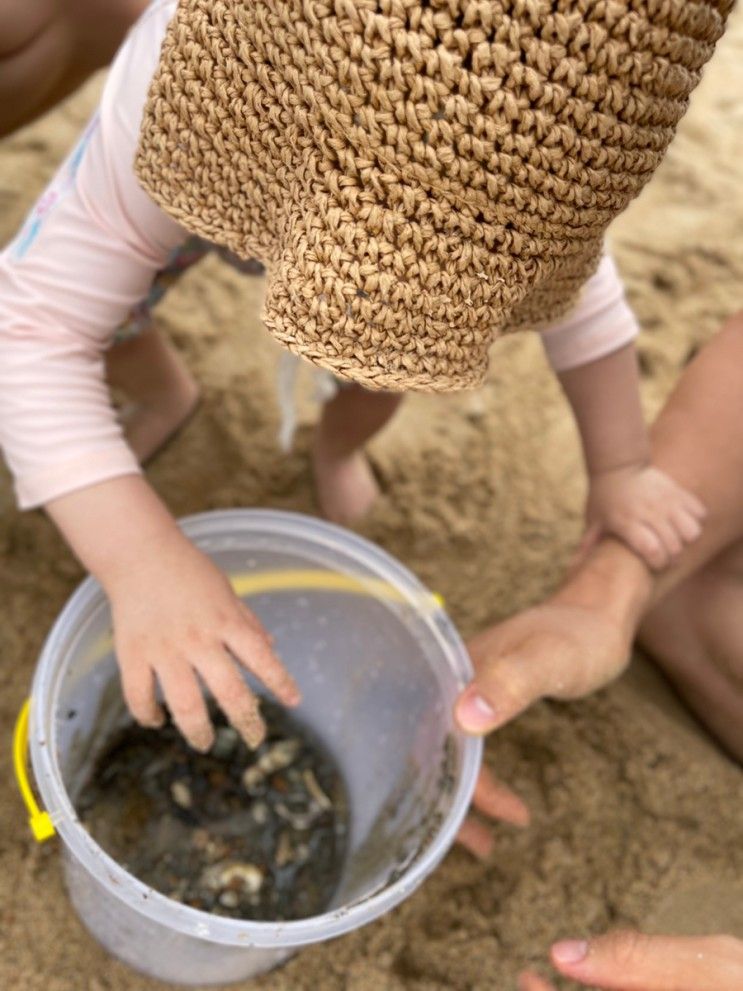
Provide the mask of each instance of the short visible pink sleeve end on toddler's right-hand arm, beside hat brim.
POLYGON ((604 255, 572 313, 547 327, 541 336, 550 364, 564 372, 631 344, 638 329, 616 265, 604 255))

